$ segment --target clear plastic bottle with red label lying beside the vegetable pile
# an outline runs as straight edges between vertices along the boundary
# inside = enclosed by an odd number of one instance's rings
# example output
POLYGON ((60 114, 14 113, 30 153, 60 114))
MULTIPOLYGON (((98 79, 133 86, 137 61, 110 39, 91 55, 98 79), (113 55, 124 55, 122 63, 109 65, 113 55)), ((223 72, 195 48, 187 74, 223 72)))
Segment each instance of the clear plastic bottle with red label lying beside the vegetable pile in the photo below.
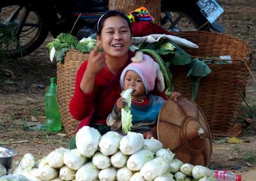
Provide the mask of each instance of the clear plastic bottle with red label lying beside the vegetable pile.
POLYGON ((225 170, 215 170, 215 178, 217 181, 241 181, 241 175, 236 175, 236 173, 232 171, 225 170))

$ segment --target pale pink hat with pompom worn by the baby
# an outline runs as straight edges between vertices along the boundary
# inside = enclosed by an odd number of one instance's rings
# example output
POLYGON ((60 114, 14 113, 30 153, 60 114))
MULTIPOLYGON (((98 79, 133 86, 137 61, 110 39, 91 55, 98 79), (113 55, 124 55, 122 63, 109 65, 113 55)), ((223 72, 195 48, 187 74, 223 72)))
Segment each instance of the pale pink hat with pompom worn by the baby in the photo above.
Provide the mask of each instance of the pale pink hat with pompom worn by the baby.
POLYGON ((122 89, 124 89, 124 77, 125 73, 129 70, 135 71, 140 75, 146 94, 153 91, 155 87, 155 81, 157 78, 157 90, 159 92, 164 91, 164 77, 160 71, 159 65, 150 56, 143 54, 142 52, 136 52, 136 55, 132 57, 132 63, 129 64, 122 72, 120 77, 120 83, 122 89))

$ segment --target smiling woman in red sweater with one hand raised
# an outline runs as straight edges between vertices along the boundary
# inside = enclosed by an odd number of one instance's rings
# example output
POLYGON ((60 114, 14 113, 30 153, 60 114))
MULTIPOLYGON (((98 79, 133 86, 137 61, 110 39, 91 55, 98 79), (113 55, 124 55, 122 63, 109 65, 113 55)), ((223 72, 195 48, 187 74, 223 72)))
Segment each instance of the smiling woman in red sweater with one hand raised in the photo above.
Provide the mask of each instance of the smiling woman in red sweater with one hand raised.
MULTIPOLYGON (((99 18, 98 45, 77 71, 75 93, 70 101, 70 112, 81 120, 77 131, 88 125, 100 134, 110 131, 106 119, 120 97, 120 75, 134 56, 129 50, 131 38, 129 19, 121 11, 108 11, 99 18), (99 46, 104 52, 97 52, 99 46)), ((157 94, 166 98, 164 92, 157 94)))

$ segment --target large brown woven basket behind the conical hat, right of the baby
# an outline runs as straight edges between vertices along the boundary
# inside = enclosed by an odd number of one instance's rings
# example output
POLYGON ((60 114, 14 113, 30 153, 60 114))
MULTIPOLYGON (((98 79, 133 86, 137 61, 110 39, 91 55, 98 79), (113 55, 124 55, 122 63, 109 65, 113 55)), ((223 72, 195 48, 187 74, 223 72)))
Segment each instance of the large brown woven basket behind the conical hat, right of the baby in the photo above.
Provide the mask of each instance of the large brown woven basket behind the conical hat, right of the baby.
MULTIPOLYGON (((252 66, 252 48, 245 41, 227 34, 190 31, 177 33, 176 36, 198 45, 196 49, 184 49, 195 57, 232 57, 231 64, 208 64, 211 74, 201 79, 196 99, 196 104, 207 118, 211 134, 230 135, 242 103, 237 91, 237 80, 242 80, 246 86, 250 74, 248 69, 252 66)), ((172 67, 175 91, 191 98, 192 83, 186 73, 186 66, 172 67)))

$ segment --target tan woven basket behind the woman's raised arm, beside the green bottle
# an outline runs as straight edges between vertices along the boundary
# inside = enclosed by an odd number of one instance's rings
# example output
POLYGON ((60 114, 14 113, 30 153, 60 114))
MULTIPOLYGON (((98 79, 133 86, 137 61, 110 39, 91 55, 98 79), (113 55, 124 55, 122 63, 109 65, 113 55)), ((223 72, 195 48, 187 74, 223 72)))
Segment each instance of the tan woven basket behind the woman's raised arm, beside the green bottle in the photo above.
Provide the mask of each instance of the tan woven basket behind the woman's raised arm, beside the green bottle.
POLYGON ((89 54, 77 50, 68 50, 63 63, 57 64, 57 96, 60 106, 61 122, 68 137, 76 133, 79 121, 75 120, 70 111, 69 103, 75 90, 76 73, 89 54))

